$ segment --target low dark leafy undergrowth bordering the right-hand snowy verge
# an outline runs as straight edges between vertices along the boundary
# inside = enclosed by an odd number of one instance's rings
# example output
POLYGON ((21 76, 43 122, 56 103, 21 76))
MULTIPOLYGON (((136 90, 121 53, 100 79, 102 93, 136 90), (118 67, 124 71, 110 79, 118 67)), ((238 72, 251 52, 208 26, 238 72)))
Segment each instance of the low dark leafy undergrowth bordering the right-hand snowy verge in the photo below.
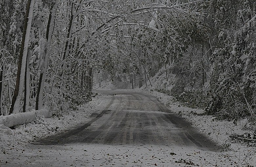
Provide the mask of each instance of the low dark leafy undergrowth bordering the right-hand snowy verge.
MULTIPOLYGON (((181 102, 184 106, 203 109, 203 114, 215 116, 216 120, 233 121, 234 124, 240 119, 248 118, 250 120, 246 104, 242 101, 239 102, 236 96, 233 96, 231 102, 231 99, 225 98, 225 96, 222 98, 211 96, 212 92, 203 89, 192 89, 183 92, 176 89, 155 90, 173 96, 176 101, 181 102)), ((251 123, 253 125, 253 122, 251 123)))

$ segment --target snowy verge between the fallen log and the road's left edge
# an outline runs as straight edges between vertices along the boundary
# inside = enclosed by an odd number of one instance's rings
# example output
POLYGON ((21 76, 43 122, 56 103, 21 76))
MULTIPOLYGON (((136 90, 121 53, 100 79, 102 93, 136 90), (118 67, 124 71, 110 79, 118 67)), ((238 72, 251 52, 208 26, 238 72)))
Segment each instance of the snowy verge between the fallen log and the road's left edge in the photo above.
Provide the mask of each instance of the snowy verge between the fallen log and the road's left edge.
POLYGON ((102 110, 109 103, 102 95, 98 95, 87 104, 79 107, 77 111, 70 111, 63 117, 40 118, 26 125, 15 126, 14 130, 0 125, 0 149, 11 150, 30 143, 35 139, 45 138, 49 135, 61 133, 90 119, 94 111, 102 110))

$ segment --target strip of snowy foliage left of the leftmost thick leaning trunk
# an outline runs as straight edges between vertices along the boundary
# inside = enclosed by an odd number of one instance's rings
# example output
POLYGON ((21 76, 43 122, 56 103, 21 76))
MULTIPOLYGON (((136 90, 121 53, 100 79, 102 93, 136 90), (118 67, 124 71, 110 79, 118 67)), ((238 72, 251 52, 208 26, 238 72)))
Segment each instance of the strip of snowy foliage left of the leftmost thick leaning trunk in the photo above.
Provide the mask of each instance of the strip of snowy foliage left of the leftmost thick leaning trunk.
POLYGON ((19 40, 17 29, 19 30, 20 27, 16 24, 13 15, 18 12, 16 10, 21 10, 22 7, 18 5, 19 3, 19 1, 13 0, 0 2, 0 115, 9 113, 11 94, 15 86, 17 54, 15 54, 16 45, 12 44, 15 43, 15 40, 19 40), (16 37, 13 38, 15 34, 16 37))

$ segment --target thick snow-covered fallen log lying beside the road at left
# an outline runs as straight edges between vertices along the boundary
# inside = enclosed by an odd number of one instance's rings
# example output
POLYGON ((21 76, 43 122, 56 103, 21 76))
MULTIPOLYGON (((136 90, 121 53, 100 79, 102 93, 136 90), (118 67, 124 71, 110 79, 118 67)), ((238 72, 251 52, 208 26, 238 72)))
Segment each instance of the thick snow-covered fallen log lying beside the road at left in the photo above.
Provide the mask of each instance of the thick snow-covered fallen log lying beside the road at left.
POLYGON ((7 126, 7 127, 22 125, 22 124, 35 121, 38 115, 43 115, 44 118, 50 118, 52 116, 52 112, 46 109, 41 109, 41 110, 32 110, 31 112, 26 112, 26 113, 0 116, 0 124, 3 124, 4 126, 7 126))

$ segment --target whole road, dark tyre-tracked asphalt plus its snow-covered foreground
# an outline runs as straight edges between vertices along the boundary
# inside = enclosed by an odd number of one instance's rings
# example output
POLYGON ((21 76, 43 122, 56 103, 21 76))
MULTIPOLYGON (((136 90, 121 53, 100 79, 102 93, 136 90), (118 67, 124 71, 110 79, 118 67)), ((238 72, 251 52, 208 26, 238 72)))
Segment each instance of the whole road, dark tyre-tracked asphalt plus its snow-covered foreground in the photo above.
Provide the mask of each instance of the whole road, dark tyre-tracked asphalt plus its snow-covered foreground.
POLYGON ((88 121, 5 151, 0 166, 241 165, 237 157, 215 150, 214 142, 154 96, 124 90, 98 92, 107 103, 102 107, 98 102, 88 121))

